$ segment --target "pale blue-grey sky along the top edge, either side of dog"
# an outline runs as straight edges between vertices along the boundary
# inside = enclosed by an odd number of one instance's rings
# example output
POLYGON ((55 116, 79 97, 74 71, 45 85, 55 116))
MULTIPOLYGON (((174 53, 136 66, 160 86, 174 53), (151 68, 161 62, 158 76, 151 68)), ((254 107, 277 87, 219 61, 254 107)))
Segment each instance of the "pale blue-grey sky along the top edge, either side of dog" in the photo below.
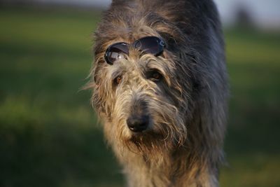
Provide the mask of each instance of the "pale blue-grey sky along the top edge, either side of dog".
MULTIPOLYGON (((85 6, 109 6, 111 0, 37 0, 85 6)), ((151 0, 152 1, 152 0, 151 0)), ((235 21, 237 8, 244 6, 256 25, 280 28, 280 0, 214 0, 225 24, 235 21)))

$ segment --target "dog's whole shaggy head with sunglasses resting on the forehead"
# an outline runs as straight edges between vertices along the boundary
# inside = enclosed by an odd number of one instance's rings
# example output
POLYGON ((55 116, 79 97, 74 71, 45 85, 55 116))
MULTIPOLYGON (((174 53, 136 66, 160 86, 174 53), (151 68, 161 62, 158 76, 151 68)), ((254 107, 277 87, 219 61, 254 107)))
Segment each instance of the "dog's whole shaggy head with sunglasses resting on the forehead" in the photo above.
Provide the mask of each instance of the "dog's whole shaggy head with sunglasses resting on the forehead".
POLYGON ((137 150, 181 146, 194 84, 188 39, 163 13, 115 9, 95 34, 92 69, 92 104, 106 137, 137 150))

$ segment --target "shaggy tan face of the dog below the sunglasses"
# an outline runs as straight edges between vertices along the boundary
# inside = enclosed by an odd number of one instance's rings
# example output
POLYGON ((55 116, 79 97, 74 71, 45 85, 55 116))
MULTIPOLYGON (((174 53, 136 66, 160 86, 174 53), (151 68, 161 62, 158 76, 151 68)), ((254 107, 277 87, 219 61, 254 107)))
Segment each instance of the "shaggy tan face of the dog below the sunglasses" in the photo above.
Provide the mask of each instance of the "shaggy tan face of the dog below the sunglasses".
POLYGON ((176 57, 167 48, 157 56, 130 48, 130 55, 108 64, 104 53, 116 41, 104 45, 96 62, 102 66, 94 71, 93 102, 109 142, 154 151, 182 145, 188 102, 178 80, 183 70, 178 69, 176 57))

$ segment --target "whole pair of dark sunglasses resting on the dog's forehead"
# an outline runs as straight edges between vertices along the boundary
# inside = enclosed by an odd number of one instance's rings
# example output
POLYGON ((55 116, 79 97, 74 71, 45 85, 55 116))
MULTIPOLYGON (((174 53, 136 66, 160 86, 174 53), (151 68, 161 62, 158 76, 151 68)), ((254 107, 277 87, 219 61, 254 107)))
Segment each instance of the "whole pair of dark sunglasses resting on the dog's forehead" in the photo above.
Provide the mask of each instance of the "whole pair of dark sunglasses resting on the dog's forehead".
POLYGON ((116 60, 121 60, 130 55, 130 46, 139 49, 141 52, 158 56, 165 48, 165 42, 156 36, 146 36, 134 43, 125 42, 114 43, 107 48, 104 58, 108 64, 113 65, 116 60))

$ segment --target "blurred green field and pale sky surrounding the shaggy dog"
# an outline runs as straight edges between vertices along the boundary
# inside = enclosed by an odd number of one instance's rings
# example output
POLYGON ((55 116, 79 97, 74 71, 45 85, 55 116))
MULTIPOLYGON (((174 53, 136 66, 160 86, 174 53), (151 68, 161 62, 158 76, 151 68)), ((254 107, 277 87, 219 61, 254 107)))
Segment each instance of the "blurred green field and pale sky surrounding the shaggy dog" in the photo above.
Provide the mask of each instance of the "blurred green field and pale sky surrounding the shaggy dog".
MULTIPOLYGON (((279 187, 280 1, 216 3, 231 85, 221 186, 279 187)), ((0 187, 124 186, 90 91, 79 91, 109 4, 0 1, 0 187)))

